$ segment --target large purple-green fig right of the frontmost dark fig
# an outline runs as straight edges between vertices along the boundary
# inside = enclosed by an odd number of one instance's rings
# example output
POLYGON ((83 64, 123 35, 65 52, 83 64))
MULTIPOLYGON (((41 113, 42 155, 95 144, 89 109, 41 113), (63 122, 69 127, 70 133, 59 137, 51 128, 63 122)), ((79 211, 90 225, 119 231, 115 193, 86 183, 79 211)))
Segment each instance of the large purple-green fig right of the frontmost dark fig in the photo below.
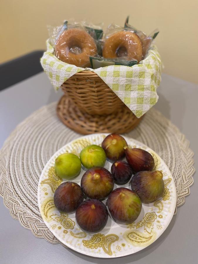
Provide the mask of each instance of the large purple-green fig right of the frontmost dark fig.
POLYGON ((117 188, 109 195, 107 206, 115 221, 133 223, 139 216, 142 203, 139 196, 127 189, 117 188))

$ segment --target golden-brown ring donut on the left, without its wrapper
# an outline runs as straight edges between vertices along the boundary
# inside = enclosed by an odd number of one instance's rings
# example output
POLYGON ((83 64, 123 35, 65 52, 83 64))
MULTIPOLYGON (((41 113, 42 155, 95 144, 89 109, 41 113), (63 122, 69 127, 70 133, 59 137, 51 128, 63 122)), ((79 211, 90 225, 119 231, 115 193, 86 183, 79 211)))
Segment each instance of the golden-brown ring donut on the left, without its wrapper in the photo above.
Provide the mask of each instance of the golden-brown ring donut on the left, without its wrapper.
POLYGON ((55 43, 56 57, 77 67, 89 67, 89 56, 97 54, 97 47, 94 39, 85 31, 79 28, 70 28, 60 35, 55 43), (81 50, 80 53, 73 53, 71 50, 81 50))

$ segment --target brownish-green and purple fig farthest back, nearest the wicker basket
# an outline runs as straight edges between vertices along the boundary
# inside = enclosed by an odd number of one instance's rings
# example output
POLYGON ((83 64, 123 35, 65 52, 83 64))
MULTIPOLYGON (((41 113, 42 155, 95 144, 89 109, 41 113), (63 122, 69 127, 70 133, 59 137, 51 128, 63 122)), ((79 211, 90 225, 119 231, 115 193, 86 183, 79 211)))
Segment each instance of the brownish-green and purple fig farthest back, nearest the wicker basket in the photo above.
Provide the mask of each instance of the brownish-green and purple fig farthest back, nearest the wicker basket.
POLYGON ((112 161, 121 160, 124 158, 124 149, 123 147, 128 146, 126 140, 116 134, 111 134, 106 136, 102 141, 102 148, 104 149, 107 158, 112 161))

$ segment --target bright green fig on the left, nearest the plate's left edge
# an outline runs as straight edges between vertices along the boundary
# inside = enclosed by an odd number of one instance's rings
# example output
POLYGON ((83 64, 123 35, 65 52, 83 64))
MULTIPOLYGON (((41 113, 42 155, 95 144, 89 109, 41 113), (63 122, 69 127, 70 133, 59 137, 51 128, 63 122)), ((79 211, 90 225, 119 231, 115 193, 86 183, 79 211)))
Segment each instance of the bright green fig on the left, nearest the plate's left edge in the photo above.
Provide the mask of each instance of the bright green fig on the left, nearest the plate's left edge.
POLYGON ((60 178, 70 180, 80 173, 81 162, 77 155, 63 153, 56 158, 54 168, 60 178))

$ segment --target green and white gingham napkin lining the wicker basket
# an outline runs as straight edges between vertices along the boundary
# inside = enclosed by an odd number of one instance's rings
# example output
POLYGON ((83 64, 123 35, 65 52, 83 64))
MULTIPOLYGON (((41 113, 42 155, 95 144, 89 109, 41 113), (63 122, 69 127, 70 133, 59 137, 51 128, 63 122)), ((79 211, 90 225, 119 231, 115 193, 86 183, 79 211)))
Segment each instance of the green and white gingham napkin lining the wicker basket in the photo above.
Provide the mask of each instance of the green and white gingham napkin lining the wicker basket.
POLYGON ((138 118, 158 101, 157 87, 161 81, 162 62, 155 45, 150 48, 147 57, 137 65, 111 65, 93 70, 60 61, 47 40, 47 51, 40 61, 56 90, 77 72, 95 72, 138 118))

